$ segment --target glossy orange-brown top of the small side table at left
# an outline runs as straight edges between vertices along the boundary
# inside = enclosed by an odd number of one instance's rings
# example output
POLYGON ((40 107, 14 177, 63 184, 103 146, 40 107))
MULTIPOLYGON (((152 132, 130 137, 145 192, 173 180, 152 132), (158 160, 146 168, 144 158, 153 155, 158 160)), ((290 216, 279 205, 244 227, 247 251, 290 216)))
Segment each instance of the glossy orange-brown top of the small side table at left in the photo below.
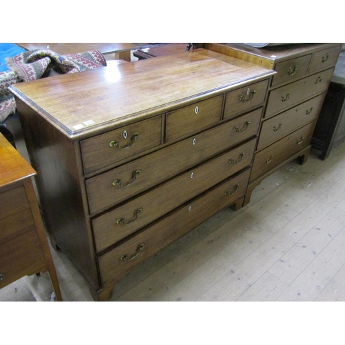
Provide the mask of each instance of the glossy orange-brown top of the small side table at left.
POLYGON ((0 133, 0 188, 35 174, 32 166, 0 133))

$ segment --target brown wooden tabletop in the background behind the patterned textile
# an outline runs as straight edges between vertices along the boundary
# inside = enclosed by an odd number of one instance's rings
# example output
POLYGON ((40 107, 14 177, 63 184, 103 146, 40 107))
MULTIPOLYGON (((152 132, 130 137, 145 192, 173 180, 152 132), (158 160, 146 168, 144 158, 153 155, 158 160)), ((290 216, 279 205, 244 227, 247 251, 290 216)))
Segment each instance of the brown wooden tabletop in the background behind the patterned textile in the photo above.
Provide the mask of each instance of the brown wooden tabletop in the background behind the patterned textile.
POLYGON ((150 43, 16 43, 26 50, 50 49, 60 55, 99 50, 103 54, 150 46, 150 43))

